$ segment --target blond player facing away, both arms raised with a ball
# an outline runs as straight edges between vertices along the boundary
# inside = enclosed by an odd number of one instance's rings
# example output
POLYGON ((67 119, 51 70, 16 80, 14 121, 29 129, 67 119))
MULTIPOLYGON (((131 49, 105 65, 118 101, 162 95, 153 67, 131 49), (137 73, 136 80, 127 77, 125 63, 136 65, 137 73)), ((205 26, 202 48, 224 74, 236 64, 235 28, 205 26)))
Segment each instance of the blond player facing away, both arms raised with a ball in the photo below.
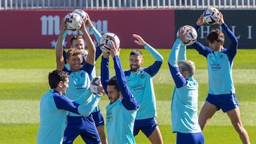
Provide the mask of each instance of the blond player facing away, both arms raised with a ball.
POLYGON ((177 36, 169 55, 168 65, 174 79, 171 99, 171 126, 176 143, 203 144, 204 138, 198 123, 198 82, 193 78, 196 66, 186 60, 185 29, 177 36))

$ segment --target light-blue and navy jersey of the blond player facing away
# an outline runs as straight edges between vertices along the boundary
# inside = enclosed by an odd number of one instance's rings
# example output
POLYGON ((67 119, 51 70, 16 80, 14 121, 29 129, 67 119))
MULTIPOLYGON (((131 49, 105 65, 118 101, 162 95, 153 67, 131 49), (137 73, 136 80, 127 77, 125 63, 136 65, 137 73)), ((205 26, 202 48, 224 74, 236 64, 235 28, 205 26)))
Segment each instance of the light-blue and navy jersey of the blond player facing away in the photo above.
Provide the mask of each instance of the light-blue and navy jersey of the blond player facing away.
POLYGON ((186 60, 186 45, 176 39, 169 55, 168 65, 176 87, 171 100, 171 126, 174 133, 198 133, 198 82, 185 79, 178 68, 178 57, 186 60))

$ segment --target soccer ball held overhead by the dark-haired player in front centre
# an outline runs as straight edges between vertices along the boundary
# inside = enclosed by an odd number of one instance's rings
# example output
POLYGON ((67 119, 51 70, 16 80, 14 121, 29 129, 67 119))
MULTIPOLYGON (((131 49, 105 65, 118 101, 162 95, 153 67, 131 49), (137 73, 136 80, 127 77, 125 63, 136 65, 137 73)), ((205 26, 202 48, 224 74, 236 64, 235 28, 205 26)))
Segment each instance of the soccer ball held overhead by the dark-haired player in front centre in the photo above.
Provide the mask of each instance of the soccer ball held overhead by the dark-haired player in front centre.
POLYGON ((102 50, 102 52, 110 52, 110 49, 112 48, 110 40, 113 40, 113 42, 117 45, 117 48, 119 48, 120 40, 117 35, 114 33, 104 33, 100 38, 99 43, 100 50, 102 50))

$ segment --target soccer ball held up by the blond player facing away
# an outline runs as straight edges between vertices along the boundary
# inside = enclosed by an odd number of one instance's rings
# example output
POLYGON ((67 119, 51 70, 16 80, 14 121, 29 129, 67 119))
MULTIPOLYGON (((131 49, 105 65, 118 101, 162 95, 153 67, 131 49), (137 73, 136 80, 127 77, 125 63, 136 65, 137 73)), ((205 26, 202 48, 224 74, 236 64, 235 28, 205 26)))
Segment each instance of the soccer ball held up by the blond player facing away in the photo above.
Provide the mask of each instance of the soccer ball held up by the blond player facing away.
POLYGON ((193 28, 193 26, 182 26, 181 28, 178 29, 176 36, 179 35, 179 33, 181 33, 181 30, 184 29, 184 31, 188 31, 188 34, 186 35, 186 42, 183 43, 184 45, 192 45, 193 43, 195 43, 196 39, 197 39, 197 32, 196 29, 193 28))

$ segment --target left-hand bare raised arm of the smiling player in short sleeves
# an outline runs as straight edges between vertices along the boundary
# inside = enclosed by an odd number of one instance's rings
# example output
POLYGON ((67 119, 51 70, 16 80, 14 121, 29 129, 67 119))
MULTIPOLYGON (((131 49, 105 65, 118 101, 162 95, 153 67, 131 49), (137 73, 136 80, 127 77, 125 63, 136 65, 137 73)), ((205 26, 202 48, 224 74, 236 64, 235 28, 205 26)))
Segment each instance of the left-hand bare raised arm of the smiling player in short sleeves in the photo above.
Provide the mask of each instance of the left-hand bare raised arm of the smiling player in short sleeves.
POLYGON ((57 46, 56 46, 56 70, 63 70, 65 67, 65 61, 63 57, 63 34, 67 30, 67 26, 65 25, 65 19, 60 23, 60 34, 58 35, 57 46))

